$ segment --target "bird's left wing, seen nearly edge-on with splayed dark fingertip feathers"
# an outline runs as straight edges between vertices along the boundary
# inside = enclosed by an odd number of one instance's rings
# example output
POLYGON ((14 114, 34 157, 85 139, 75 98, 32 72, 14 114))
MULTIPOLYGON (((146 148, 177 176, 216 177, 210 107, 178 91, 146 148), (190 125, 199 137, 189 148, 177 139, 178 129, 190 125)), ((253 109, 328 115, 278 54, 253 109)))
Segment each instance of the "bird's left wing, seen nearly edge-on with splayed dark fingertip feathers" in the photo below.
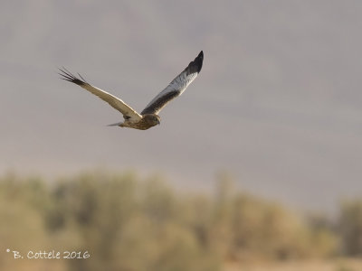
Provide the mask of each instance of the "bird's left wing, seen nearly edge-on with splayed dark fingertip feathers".
POLYGON ((129 107, 129 105, 127 105, 120 98, 117 98, 104 90, 98 89, 90 85, 85 79, 81 77, 81 74, 78 73, 80 77, 79 79, 72 75, 71 72, 69 70, 66 70, 64 67, 59 70, 61 70, 61 73, 59 73, 62 76, 61 79, 77 84, 78 86, 81 86, 81 88, 90 91, 90 93, 97 95, 102 100, 108 102, 111 107, 119 110, 119 112, 122 113, 125 118, 129 118, 134 121, 138 121, 142 118, 142 116, 140 116, 132 107, 129 107))

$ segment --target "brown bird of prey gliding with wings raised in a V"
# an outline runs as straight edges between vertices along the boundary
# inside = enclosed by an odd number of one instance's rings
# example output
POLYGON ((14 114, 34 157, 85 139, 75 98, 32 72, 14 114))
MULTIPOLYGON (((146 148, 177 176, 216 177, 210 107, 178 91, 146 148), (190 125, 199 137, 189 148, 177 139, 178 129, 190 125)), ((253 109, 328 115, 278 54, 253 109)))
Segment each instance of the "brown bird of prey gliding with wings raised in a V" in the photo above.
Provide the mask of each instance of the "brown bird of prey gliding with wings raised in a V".
POLYGON ((74 84, 81 86, 83 89, 87 89, 90 93, 97 95, 102 100, 108 102, 111 107, 119 110, 122 113, 124 121, 112 124, 110 126, 129 127, 139 130, 147 130, 150 127, 157 126, 160 124, 160 117, 157 115, 158 112, 167 105, 167 103, 180 96, 188 85, 196 78, 201 68, 203 67, 204 52, 200 51, 194 61, 191 61, 185 70, 183 70, 175 79, 173 79, 166 89, 163 89, 158 95, 153 98, 148 106, 145 107, 140 114, 132 107, 129 107, 123 100, 117 98, 110 93, 98 89, 78 73, 79 78, 72 75, 70 71, 65 68, 59 69, 59 73, 62 78, 68 80, 74 84))

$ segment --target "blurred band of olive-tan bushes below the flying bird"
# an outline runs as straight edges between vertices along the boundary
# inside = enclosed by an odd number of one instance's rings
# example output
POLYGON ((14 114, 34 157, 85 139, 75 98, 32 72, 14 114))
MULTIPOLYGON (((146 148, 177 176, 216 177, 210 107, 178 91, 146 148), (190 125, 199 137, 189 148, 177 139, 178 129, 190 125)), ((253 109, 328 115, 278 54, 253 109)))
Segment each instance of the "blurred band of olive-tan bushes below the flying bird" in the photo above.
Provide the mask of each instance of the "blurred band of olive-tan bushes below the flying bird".
POLYGON ((132 173, 0 178, 1 270, 216 271, 224 263, 356 257, 361 240, 362 201, 343 203, 337 220, 305 217, 235 191, 225 176, 214 195, 132 173), (44 250, 89 257, 27 259, 44 250))

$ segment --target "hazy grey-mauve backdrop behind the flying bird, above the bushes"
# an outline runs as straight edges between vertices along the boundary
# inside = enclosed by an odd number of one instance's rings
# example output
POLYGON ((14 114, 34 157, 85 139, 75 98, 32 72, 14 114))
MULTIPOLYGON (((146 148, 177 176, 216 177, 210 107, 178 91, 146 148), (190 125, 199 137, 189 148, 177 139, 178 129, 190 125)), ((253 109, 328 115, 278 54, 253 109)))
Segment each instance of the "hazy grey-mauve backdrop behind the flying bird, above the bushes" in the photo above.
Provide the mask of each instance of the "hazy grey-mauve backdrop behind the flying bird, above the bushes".
POLYGON ((362 2, 0 4, 0 173, 103 167, 243 189, 302 208, 362 194, 362 2), (204 67, 148 131, 58 79, 80 72, 142 110, 201 50, 204 67))

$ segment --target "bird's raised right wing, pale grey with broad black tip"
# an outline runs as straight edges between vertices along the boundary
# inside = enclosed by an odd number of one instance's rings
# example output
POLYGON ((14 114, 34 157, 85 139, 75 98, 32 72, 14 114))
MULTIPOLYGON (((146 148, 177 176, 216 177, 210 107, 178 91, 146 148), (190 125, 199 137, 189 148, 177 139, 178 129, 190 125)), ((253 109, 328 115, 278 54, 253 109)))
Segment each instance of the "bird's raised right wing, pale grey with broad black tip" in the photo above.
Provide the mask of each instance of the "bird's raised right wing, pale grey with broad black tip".
POLYGON ((200 72, 203 67, 203 61, 204 52, 200 51, 195 60, 191 61, 186 69, 169 83, 166 89, 162 90, 149 102, 148 106, 141 112, 141 115, 157 114, 170 100, 180 96, 200 72))

